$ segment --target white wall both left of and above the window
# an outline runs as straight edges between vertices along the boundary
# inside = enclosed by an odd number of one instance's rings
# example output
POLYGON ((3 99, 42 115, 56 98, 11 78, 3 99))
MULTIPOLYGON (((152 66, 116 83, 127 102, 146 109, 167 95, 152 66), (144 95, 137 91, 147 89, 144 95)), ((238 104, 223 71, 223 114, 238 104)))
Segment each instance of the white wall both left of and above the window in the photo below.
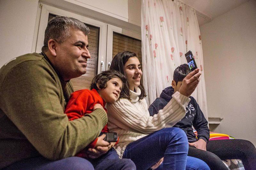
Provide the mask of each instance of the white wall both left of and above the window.
MULTIPOLYGON (((141 0, 40 0, 80 15, 140 32, 141 0)), ((38 0, 0 0, 0 68, 12 58, 34 52, 38 0), (34 35, 35 33, 35 35, 34 35)))

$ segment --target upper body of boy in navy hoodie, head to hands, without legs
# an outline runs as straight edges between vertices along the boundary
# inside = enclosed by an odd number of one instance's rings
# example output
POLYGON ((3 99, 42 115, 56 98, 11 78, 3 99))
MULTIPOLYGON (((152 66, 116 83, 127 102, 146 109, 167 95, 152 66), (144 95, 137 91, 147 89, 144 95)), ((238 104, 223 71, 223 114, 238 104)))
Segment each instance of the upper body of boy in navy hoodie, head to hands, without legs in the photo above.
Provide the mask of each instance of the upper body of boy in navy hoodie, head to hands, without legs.
MULTIPOLYGON (((185 78, 190 72, 191 71, 187 64, 182 64, 175 69, 172 86, 165 88, 160 94, 160 97, 149 106, 148 111, 150 116, 157 114, 160 109, 164 108, 164 106, 172 99, 172 94, 180 90, 183 78, 185 78)), ((206 143, 210 137, 210 130, 207 126, 208 122, 199 105, 196 103, 196 100, 192 96, 189 96, 189 98, 190 102, 186 107, 187 111, 185 117, 173 127, 183 129, 186 132, 188 142, 191 145, 196 146, 198 149, 206 150, 206 143), (198 140, 193 132, 192 125, 197 131, 198 140)))

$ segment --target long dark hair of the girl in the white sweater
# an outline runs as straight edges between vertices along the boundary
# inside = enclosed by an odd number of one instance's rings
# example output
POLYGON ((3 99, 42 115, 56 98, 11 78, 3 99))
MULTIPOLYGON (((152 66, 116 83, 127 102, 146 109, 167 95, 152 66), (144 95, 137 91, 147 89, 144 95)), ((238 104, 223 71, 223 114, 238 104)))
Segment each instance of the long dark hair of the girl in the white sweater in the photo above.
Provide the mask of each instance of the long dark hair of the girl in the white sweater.
MULTIPOLYGON (((112 59, 110 70, 117 70, 117 71, 120 71, 121 73, 123 73, 125 75, 125 73, 124 73, 124 64, 131 57, 137 57, 137 54, 133 53, 133 52, 130 52, 130 51, 123 51, 121 53, 118 53, 112 59)), ((130 100, 131 98, 130 98, 129 84, 127 83, 127 85, 123 85, 123 87, 124 87, 124 90, 123 90, 124 91, 124 96, 123 96, 123 98, 126 98, 126 99, 130 100)), ((140 88, 140 91, 141 91, 140 96, 139 96, 139 99, 141 100, 144 97, 146 97, 146 92, 145 92, 145 89, 144 89, 141 82, 140 82, 140 85, 138 87, 140 88)), ((120 98, 121 98, 121 96, 120 96, 120 98)))

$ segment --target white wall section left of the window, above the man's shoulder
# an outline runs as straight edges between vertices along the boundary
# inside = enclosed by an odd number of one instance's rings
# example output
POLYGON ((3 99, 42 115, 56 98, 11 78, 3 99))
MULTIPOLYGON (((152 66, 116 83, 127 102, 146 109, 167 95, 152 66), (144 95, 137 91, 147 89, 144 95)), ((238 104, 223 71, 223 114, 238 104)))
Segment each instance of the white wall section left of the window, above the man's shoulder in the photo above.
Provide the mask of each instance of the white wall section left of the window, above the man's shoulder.
POLYGON ((38 0, 0 1, 0 68, 12 58, 31 53, 38 0))

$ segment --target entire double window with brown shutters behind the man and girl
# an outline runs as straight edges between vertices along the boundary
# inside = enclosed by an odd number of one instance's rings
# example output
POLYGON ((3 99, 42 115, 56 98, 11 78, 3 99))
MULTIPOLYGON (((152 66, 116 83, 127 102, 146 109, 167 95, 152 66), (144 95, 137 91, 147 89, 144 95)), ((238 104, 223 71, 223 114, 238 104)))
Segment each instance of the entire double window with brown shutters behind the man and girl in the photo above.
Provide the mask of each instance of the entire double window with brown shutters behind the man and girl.
POLYGON ((44 31, 48 20, 56 15, 76 18, 84 22, 91 30, 88 35, 88 43, 92 57, 88 60, 86 74, 71 79, 75 91, 89 89, 92 78, 101 71, 109 70, 112 57, 121 51, 126 50, 137 53, 140 63, 142 63, 140 33, 112 26, 46 4, 42 4, 41 16, 38 17, 38 20, 40 20, 38 21, 38 36, 37 40, 35 40, 36 42, 34 42, 37 53, 41 52, 44 42, 44 31))

